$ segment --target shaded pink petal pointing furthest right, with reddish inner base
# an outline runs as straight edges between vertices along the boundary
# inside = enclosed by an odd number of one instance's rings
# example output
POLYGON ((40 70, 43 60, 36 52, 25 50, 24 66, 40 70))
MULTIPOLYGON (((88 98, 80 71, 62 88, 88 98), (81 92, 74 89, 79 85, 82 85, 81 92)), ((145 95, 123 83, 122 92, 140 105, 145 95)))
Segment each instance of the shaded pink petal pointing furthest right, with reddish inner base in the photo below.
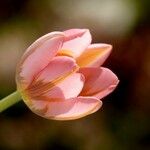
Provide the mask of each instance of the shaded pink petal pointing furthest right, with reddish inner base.
POLYGON ((110 94, 119 83, 117 76, 107 68, 82 68, 85 76, 84 88, 80 95, 96 96, 101 99, 110 94))

